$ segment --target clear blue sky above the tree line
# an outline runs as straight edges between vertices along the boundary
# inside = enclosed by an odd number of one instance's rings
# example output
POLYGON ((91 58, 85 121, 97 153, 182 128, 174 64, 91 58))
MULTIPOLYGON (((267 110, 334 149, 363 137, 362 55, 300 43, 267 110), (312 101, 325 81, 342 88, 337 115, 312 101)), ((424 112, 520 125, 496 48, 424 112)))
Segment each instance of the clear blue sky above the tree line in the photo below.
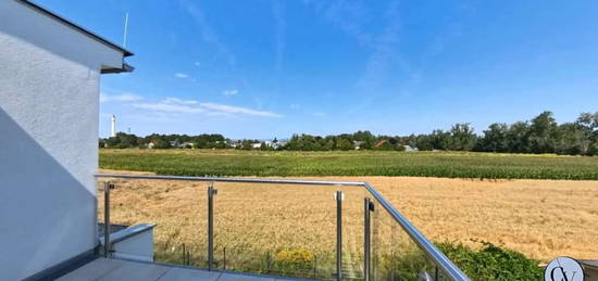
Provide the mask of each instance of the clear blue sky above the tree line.
POLYGON ((101 80, 136 135, 409 135, 598 111, 598 1, 59 1, 135 53, 101 80))

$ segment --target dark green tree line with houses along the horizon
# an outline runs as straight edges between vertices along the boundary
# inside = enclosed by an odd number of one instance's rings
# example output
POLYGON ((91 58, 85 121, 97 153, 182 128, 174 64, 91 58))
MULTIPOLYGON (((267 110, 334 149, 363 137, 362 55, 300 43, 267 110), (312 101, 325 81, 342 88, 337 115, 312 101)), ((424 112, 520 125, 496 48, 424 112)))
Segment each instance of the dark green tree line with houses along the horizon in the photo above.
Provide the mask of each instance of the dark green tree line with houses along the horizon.
POLYGON ((551 112, 531 120, 513 124, 495 123, 477 135, 468 123, 454 124, 449 130, 410 136, 374 136, 370 131, 336 136, 292 135, 288 141, 233 141, 222 135, 150 135, 137 137, 119 132, 100 139, 100 148, 197 148, 289 151, 476 151, 503 153, 556 153, 598 155, 598 112, 583 113, 575 122, 558 124, 551 112), (151 145, 150 145, 151 143, 151 145), (261 145, 256 145, 261 143, 261 145))

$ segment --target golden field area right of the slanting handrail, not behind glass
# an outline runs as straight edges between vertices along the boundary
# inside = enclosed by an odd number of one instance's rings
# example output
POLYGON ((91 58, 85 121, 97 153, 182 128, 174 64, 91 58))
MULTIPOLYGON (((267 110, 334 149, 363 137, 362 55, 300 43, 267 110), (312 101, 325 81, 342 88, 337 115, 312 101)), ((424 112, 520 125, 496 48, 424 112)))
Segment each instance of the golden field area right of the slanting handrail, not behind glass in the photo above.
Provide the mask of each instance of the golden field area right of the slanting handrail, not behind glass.
POLYGON ((487 241, 541 260, 556 256, 598 258, 598 181, 302 179, 367 181, 434 241, 471 246, 487 241))

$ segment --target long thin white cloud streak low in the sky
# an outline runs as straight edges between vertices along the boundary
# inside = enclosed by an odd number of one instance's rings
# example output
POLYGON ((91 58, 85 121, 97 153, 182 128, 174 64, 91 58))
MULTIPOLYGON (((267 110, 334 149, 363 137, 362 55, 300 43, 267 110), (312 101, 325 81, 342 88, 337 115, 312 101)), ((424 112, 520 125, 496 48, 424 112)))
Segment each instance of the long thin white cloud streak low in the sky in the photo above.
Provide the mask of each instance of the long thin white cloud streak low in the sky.
POLYGON ((153 112, 167 112, 167 113, 185 113, 185 114, 205 114, 209 116, 228 115, 228 116, 261 116, 261 117, 283 117, 283 115, 267 112, 258 111, 247 107, 233 106, 227 104, 212 103, 212 102, 198 102, 195 100, 182 100, 177 98, 166 98, 157 103, 136 103, 133 104, 136 108, 153 111, 153 112))

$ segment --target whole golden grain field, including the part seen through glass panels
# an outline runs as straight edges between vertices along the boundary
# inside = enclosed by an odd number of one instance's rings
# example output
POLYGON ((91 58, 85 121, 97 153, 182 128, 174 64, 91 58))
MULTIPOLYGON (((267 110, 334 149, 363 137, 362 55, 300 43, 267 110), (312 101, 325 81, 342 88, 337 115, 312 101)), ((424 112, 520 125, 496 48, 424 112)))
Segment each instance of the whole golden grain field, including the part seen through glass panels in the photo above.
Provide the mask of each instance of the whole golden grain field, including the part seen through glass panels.
MULTIPOLYGON (((367 181, 433 241, 460 242, 474 247, 481 245, 476 241, 487 241, 545 261, 556 256, 598 257, 598 181, 303 179, 367 181)), ((185 243, 196 258, 204 257, 207 182, 113 181, 116 183, 111 195, 113 222, 157 223, 154 239, 159 251, 172 252, 172 256, 178 257, 185 243)), ((224 247, 229 265, 250 263, 263 253, 275 254, 281 248, 308 248, 320 255, 322 264, 332 265, 329 254, 334 253, 336 239, 333 194, 339 189, 346 193, 347 263, 360 259, 365 191, 352 187, 214 186, 219 189, 214 210, 217 260, 223 258, 224 247)), ((99 200, 102 218, 101 192, 99 200)))

